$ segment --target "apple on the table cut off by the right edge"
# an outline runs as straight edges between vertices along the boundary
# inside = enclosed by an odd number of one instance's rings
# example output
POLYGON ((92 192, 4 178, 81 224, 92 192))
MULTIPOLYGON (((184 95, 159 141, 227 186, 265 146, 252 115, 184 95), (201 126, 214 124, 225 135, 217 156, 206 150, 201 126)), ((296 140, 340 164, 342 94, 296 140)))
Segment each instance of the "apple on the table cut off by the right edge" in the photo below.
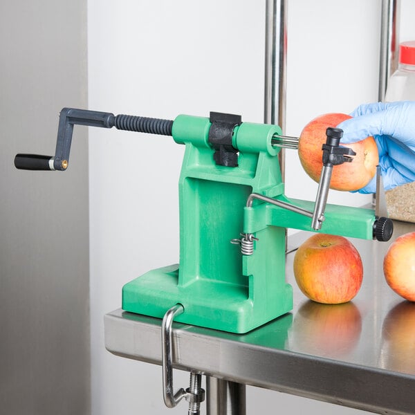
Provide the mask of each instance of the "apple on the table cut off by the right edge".
POLYGON ((383 273, 395 293, 415 302, 415 232, 391 243, 383 259, 383 273))

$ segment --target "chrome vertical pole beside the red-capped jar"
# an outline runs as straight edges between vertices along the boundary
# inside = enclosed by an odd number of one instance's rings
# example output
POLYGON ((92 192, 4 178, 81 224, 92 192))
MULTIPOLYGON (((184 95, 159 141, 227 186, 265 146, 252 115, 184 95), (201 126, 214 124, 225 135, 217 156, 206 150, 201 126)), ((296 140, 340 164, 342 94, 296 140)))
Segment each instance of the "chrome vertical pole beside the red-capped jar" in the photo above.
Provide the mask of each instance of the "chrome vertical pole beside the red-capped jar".
POLYGON ((385 99, 389 77, 398 68, 400 0, 382 0, 378 100, 385 99))

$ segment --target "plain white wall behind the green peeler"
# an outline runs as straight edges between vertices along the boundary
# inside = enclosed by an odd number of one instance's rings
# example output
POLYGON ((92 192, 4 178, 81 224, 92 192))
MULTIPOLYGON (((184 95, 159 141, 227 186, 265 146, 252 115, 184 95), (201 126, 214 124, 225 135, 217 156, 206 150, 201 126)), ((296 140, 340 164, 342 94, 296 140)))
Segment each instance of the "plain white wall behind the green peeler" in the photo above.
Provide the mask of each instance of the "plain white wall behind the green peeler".
MULTIPOLYGON (((407 19, 414 3, 403 1, 407 19)), ((265 1, 257 0, 89 0, 89 108, 169 119, 228 111, 261 122, 264 15, 265 1)), ((376 100, 380 1, 291 0, 288 16, 286 133, 376 100)), ((415 38, 404 19, 405 28, 415 38)), ((89 151, 93 414, 183 413, 184 404, 164 407, 159 367, 105 351, 102 324, 120 307, 125 282, 178 260, 183 148, 168 137, 90 129, 89 151)), ((286 170, 286 194, 314 199, 316 185, 295 151, 287 152, 286 170)), ((331 195, 332 203, 368 200, 331 195)), ((175 380, 183 386, 187 375, 175 380)), ((270 407, 358 413, 248 388, 248 413, 270 407)))

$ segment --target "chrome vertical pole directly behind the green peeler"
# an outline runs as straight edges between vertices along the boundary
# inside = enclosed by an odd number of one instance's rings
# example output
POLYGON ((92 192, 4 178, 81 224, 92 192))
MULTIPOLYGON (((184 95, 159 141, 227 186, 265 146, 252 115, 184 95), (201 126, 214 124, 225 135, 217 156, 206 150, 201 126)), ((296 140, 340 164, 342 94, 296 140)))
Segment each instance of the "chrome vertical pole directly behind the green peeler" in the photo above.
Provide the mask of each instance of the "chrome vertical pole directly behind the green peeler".
MULTIPOLYGON (((266 0, 264 122, 286 127, 286 0, 266 0)), ((282 179, 285 174, 285 150, 279 152, 282 179)))

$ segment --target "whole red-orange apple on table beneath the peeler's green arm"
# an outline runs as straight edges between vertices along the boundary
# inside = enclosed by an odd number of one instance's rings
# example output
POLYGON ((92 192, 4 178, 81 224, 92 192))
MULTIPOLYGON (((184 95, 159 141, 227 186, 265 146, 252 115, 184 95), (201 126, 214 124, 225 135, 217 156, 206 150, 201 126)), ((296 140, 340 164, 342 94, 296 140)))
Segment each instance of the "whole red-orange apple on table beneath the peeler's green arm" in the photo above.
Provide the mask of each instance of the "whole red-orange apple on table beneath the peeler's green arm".
POLYGON ((294 257, 299 289, 315 302, 340 304, 360 290, 363 264, 358 250, 338 235, 315 234, 299 246, 294 257))

